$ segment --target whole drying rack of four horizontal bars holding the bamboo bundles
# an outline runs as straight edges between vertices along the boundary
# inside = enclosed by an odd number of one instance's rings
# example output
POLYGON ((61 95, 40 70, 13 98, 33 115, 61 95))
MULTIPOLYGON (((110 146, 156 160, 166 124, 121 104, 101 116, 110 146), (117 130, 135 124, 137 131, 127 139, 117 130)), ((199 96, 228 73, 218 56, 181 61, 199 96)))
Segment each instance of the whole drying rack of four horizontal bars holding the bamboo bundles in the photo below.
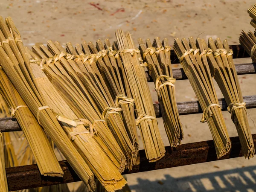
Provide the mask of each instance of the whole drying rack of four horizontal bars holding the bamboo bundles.
MULTIPOLYGON (((250 57, 247 52, 244 51, 241 45, 230 46, 233 49, 233 58, 246 58, 250 57)), ((175 53, 171 52, 172 64, 177 64, 178 59, 175 53)), ((256 73, 256 64, 236 64, 236 71, 238 75, 242 74, 253 74, 256 73)), ((174 69, 173 76, 177 80, 187 79, 184 71, 182 69, 174 69)), ((147 74, 148 81, 152 81, 151 77, 147 74)), ((227 110, 227 104, 224 99, 219 99, 221 110, 227 110)), ((246 102, 247 108, 256 108, 256 95, 254 96, 244 96, 244 102, 246 102)), ((198 101, 193 102, 178 102, 177 108, 180 115, 202 113, 202 109, 199 106, 198 101)), ((161 110, 158 104, 154 104, 154 109, 156 111, 157 117, 161 117, 161 110)), ((15 119, 12 118, 2 118, 0 119, 0 131, 21 131, 19 125, 15 119)), ((202 141, 196 143, 187 143, 178 146, 177 148, 171 148, 170 146, 166 148, 166 155, 154 163, 148 163, 145 156, 145 151, 140 150, 137 157, 137 163, 131 171, 126 170, 123 174, 145 172, 157 169, 165 169, 176 166, 185 166, 196 163, 205 163, 215 160, 223 160, 235 157, 243 156, 241 152, 241 145, 238 137, 230 138, 232 142, 231 151, 217 159, 215 153, 215 147, 213 141, 202 141)), ((253 143, 256 145, 256 134, 253 134, 253 143)), ((6 169, 7 180, 9 191, 29 189, 40 186, 56 185, 61 183, 70 183, 79 181, 79 177, 76 175, 74 170, 71 168, 67 161, 60 161, 61 168, 64 171, 63 178, 52 178, 43 177, 40 175, 38 167, 36 164, 27 166, 18 166, 6 169)))

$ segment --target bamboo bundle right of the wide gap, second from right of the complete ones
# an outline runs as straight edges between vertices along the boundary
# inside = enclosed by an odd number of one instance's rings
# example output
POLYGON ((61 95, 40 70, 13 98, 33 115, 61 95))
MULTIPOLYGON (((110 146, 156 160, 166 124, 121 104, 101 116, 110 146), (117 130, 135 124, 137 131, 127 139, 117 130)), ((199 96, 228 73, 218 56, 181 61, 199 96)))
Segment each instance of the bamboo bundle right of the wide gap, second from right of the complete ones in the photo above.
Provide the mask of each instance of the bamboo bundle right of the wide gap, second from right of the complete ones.
MULTIPOLYGON (((199 42, 198 42, 199 43, 199 42)), ((201 48, 201 46, 199 46, 201 48)), ((228 137, 227 128, 221 113, 221 107, 213 87, 212 77, 209 70, 206 54, 196 47, 196 43, 192 37, 189 43, 185 38, 176 38, 174 42, 174 50, 180 58, 186 76, 192 85, 198 98, 201 108, 204 109, 201 122, 209 125, 212 138, 215 144, 217 157, 222 157, 230 151, 231 143, 228 137)))

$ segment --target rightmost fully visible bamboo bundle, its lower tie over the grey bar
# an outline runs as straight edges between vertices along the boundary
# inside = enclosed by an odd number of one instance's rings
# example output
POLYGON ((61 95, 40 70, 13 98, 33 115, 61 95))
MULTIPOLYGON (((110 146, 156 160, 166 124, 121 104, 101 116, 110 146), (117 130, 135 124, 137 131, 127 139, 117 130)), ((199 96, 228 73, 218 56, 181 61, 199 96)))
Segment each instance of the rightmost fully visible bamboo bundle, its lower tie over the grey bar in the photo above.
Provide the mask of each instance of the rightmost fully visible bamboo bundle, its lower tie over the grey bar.
POLYGON ((198 47, 201 52, 207 50, 210 70, 213 78, 218 83, 225 101, 228 105, 228 111, 231 113, 231 119, 236 125, 239 140, 242 146, 244 157, 250 159, 254 156, 254 144, 247 119, 245 102, 241 93, 236 68, 233 62, 233 51, 229 48, 227 40, 221 42, 220 38, 215 41, 208 39, 208 48, 205 41, 198 38, 198 47))

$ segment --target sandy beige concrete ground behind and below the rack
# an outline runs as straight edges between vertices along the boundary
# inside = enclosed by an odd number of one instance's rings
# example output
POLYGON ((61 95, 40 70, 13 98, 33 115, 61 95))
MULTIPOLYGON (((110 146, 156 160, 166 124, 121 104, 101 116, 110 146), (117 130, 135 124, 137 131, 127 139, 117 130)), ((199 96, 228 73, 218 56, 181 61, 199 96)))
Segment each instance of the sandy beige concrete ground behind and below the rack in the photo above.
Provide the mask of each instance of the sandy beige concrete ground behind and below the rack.
MULTIPOLYGON (((120 27, 137 38, 216 38, 239 44, 241 30, 254 30, 250 26, 247 9, 255 1, 235 0, 1 0, 0 14, 11 16, 22 34, 26 46, 46 43, 47 40, 73 44, 82 40, 101 38, 115 40, 120 27)), ((236 59, 236 63, 251 62, 250 58, 236 59)), ((179 67, 179 65, 173 65, 179 67)), ((256 95, 256 75, 239 76, 244 96, 256 95)), ((217 95, 222 94, 215 84, 217 95)), ((156 95, 150 84, 154 101, 156 95)), ((177 102, 197 100, 188 80, 177 81, 177 102)), ((230 137, 236 128, 227 111, 223 112, 230 137)), ((251 131, 256 133, 253 120, 256 109, 249 109, 251 131)), ((200 123, 201 114, 180 116, 185 138, 183 143, 212 140, 207 123, 200 123)), ((162 119, 160 132, 165 145, 169 145, 162 119)), ((142 145, 141 145, 142 147, 142 145)), ((256 191, 256 160, 243 157, 197 165, 162 169, 127 175, 133 192, 254 192, 256 191)), ((72 187, 72 186, 71 186, 72 187)))

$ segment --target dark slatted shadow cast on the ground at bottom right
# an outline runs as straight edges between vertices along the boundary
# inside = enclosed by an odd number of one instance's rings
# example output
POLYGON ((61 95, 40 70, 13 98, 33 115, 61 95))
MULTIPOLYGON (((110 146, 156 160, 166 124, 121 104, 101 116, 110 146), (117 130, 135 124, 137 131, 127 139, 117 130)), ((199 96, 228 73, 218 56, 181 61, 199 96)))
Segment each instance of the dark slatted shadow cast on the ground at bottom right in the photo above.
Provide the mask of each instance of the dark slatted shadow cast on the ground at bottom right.
POLYGON ((156 181, 139 178, 130 188, 136 192, 256 192, 256 166, 179 178, 165 175, 156 181))

